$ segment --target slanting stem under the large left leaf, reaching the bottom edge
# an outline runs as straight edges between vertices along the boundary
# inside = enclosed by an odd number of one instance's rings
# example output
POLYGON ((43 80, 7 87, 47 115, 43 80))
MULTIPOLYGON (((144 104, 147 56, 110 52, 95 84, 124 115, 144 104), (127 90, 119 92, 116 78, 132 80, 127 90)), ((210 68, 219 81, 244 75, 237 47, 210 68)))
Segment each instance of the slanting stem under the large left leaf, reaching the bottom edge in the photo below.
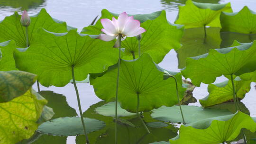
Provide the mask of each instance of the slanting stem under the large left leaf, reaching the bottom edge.
POLYGON ((82 117, 82 108, 81 108, 81 103, 80 103, 80 98, 79 98, 79 93, 76 87, 76 82, 75 82, 75 77, 74 77, 74 66, 72 65, 72 79, 73 79, 73 84, 74 84, 74 88, 75 88, 75 92, 76 92, 76 98, 77 98, 77 103, 78 103, 78 108, 79 108, 79 112, 80 112, 80 117, 81 117, 81 121, 82 121, 82 127, 83 127, 83 131, 84 131, 84 135, 86 137, 86 144, 90 144, 89 143, 89 139, 86 133, 86 129, 85 129, 85 125, 84 125, 84 121, 83 121, 83 117, 82 117))

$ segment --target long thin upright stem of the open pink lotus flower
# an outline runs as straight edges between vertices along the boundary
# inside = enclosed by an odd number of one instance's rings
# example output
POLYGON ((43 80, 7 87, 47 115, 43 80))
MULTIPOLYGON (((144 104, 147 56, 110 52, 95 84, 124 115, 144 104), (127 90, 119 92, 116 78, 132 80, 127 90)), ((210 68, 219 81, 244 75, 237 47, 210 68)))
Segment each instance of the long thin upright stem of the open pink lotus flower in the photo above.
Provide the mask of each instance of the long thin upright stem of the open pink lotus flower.
POLYGON ((116 87, 116 124, 115 124, 115 144, 117 144, 117 133, 118 133, 118 117, 117 117, 117 105, 118 105, 118 85, 119 85, 119 72, 120 72, 120 63, 121 63, 121 34, 119 34, 119 59, 118 59, 118 75, 117 75, 117 87, 116 87))

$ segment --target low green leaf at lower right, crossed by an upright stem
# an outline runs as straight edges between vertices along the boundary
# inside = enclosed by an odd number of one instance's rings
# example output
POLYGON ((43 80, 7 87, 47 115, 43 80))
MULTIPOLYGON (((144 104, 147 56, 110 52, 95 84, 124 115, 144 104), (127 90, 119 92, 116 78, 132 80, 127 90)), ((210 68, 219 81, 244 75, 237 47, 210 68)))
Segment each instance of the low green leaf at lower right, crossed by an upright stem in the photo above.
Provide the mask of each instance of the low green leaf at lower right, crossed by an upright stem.
MULTIPOLYGON (((238 99, 244 99, 246 93, 251 89, 251 81, 242 81, 237 77, 234 84, 238 99)), ((209 84, 208 92, 209 95, 207 97, 199 100, 200 104, 204 108, 233 100, 233 87, 231 80, 216 84, 209 84)))

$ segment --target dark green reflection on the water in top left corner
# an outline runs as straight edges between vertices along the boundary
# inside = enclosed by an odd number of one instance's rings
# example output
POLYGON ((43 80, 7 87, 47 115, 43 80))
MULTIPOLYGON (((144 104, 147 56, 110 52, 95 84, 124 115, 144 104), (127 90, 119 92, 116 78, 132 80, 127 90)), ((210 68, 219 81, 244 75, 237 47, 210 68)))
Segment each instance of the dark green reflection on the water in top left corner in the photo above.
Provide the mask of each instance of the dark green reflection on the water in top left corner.
POLYGON ((37 9, 42 7, 45 0, 0 0, 1 7, 11 7, 18 9, 37 9))

